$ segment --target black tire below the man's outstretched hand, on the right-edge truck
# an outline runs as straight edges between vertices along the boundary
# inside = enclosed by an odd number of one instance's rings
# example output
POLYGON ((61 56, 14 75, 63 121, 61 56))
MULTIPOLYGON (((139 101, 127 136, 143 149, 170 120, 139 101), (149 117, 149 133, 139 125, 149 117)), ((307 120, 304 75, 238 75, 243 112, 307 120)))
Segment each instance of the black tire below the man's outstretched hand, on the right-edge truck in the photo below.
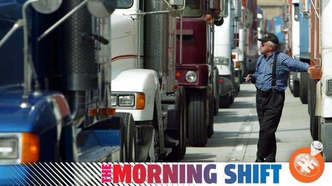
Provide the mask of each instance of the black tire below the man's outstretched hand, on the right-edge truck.
POLYGON ((316 116, 316 79, 308 80, 308 109, 310 115, 310 134, 313 140, 318 140, 318 116, 316 116))

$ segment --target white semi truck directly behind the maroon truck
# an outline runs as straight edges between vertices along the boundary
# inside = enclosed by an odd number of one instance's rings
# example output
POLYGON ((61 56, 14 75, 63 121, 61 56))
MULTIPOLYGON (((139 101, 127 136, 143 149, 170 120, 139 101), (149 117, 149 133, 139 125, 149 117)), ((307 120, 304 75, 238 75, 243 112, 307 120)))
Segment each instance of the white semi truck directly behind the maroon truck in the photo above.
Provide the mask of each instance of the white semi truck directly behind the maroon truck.
MULTIPOLYGON (((236 50, 235 33, 237 33, 237 22, 241 16, 241 1, 224 1, 225 11, 223 12, 223 25, 215 28, 215 48, 214 63, 219 71, 220 86, 220 108, 229 108, 234 102, 234 98, 239 91, 239 64, 235 66, 233 59, 236 54, 232 54, 232 50, 236 50), (235 17, 235 11, 236 17, 235 17), (237 68, 237 71, 235 70, 237 68)), ((236 51, 235 51, 236 52, 236 51)))

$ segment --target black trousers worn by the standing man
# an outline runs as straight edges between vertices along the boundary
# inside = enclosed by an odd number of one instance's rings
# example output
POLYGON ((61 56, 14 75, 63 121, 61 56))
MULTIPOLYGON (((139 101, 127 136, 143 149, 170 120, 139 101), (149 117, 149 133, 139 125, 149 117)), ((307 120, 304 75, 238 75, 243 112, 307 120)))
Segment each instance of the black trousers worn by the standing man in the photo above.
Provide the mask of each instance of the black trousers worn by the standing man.
POLYGON ((285 92, 277 90, 256 92, 256 110, 259 121, 259 139, 257 143, 257 158, 275 162, 277 130, 284 108, 285 92))

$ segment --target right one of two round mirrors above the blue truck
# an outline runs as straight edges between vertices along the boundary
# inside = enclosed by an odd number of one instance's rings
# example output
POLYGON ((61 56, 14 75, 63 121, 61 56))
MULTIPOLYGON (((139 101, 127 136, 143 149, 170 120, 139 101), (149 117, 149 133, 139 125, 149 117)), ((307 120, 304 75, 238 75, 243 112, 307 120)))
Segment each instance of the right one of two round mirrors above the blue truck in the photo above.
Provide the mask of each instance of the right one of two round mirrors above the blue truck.
POLYGON ((110 16, 117 6, 117 1, 112 0, 90 0, 88 10, 95 17, 103 18, 110 16))

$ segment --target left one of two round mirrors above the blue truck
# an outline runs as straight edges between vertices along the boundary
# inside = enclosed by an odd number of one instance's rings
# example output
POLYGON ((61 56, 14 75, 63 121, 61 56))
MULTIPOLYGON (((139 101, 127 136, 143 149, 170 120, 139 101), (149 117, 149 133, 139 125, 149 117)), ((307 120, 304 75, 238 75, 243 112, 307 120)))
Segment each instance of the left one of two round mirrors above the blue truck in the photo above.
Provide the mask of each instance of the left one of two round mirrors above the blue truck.
POLYGON ((39 13, 49 14, 57 11, 62 0, 39 0, 32 3, 32 7, 39 13))

